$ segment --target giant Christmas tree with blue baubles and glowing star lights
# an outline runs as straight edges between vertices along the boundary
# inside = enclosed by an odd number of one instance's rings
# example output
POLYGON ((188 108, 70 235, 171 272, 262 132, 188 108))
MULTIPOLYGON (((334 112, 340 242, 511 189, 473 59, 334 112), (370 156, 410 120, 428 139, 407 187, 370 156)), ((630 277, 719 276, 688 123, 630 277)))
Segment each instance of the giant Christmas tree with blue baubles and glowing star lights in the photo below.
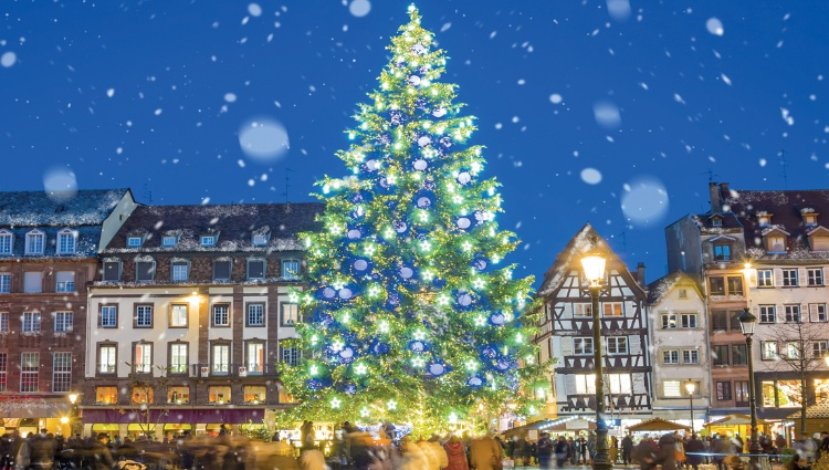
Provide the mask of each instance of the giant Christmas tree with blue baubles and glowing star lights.
POLYGON ((300 405, 290 419, 413 422, 445 430, 510 406, 534 414, 547 388, 532 343, 532 278, 504 257, 518 244, 495 222, 501 195, 468 140, 445 53, 410 21, 370 102, 359 105, 348 176, 317 185, 322 232, 304 234, 311 288, 293 292, 304 358, 282 367, 300 405))

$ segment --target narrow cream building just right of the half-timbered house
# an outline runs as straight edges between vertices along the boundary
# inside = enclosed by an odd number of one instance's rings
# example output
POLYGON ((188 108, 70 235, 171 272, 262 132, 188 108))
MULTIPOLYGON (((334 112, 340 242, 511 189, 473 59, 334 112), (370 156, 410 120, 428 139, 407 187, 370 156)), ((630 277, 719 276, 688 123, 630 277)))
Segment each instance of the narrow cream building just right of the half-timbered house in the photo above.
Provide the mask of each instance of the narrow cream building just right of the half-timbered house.
POLYGON ((653 416, 701 429, 711 406, 705 297, 675 271, 648 285, 653 346, 653 416), (693 385, 689 394, 686 384, 693 385))

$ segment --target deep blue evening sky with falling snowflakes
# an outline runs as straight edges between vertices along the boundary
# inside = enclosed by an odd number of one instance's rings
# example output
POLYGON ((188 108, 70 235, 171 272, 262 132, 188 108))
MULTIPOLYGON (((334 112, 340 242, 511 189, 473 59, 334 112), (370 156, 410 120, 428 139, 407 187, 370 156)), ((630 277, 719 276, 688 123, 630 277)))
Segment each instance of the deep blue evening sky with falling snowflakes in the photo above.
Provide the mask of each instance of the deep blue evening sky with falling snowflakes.
MULTIPOLYGON (((334 153, 408 4, 3 1, 0 190, 311 200, 347 173, 334 153)), ((707 210, 712 176, 828 186, 829 2, 417 7, 504 185, 499 220, 525 243, 510 261, 536 283, 587 221, 649 282, 665 274, 663 228, 707 210)))

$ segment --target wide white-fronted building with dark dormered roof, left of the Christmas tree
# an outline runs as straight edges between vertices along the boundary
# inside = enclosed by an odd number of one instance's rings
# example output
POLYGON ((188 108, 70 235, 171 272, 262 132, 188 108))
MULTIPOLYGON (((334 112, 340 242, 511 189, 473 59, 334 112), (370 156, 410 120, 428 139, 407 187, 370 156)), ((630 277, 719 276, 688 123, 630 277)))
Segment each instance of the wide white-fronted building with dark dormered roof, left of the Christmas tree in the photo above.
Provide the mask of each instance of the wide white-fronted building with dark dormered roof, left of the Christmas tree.
POLYGON ((139 207, 90 288, 84 431, 160 438, 272 424, 300 352, 300 232, 318 203, 139 207))

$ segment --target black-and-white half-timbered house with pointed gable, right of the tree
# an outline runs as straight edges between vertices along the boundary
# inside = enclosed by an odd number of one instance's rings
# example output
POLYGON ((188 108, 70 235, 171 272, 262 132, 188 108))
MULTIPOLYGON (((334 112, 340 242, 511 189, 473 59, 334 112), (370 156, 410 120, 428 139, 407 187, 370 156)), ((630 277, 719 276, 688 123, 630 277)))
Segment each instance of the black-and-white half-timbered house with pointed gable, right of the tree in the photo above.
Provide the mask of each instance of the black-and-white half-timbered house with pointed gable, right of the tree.
POLYGON ((545 314, 534 341, 543 361, 557 358, 550 380, 558 417, 595 414, 595 347, 605 353, 605 400, 612 424, 625 427, 652 417, 643 280, 644 267, 634 276, 590 224, 570 240, 545 274, 537 293, 545 314), (607 260, 599 304, 600 345, 594 344, 590 293, 580 262, 588 253, 607 260))

